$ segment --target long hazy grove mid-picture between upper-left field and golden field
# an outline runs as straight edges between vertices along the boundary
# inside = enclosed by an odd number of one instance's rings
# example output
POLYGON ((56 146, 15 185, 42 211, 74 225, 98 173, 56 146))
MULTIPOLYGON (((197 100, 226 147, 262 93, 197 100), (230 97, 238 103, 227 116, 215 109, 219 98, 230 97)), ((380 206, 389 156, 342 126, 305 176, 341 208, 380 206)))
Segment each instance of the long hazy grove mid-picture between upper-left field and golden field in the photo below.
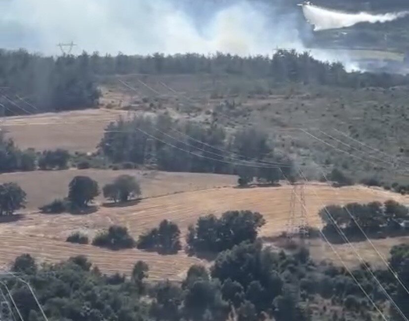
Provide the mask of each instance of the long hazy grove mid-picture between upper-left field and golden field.
POLYGON ((267 181, 280 177, 278 169, 268 165, 257 168, 248 159, 279 160, 284 171, 291 168, 288 158, 274 155, 269 137, 262 130, 245 128, 228 135, 221 126, 178 123, 168 115, 112 122, 99 143, 99 152, 114 163, 154 163, 169 171, 257 175, 267 181))

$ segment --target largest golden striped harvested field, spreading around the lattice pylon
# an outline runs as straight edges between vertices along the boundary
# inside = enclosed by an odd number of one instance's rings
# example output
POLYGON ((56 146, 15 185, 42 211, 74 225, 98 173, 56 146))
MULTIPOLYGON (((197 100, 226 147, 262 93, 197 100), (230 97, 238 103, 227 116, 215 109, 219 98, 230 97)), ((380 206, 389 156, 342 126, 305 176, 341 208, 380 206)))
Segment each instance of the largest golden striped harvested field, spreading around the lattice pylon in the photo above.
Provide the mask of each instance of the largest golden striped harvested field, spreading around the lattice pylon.
MULTIPOLYGON (((274 236, 286 227, 289 211, 291 186, 258 187, 237 189, 233 187, 211 188, 190 191, 163 197, 148 198, 128 207, 104 207, 87 215, 47 215, 32 213, 20 220, 0 224, 0 264, 9 263, 16 255, 29 252, 41 261, 59 261, 76 254, 89 256, 103 272, 129 273, 137 260, 150 265, 152 279, 169 278, 180 280, 191 264, 199 259, 188 257, 183 251, 177 255, 159 255, 137 249, 110 251, 92 245, 77 245, 65 242, 73 231, 82 231, 90 238, 100 229, 111 224, 128 227, 135 238, 149 228, 157 226, 166 218, 176 222, 185 234, 189 224, 205 213, 221 214, 230 209, 250 209, 262 213, 267 221, 261 230, 262 236, 274 236)), ((324 184, 310 184, 305 187, 308 219, 311 225, 321 226, 317 212, 325 204, 352 201, 385 201, 396 199, 407 202, 408 198, 386 191, 361 186, 334 189, 324 184)), ((380 250, 387 254, 391 245, 408 238, 376 241, 380 250)), ((344 250, 345 245, 336 245, 348 263, 357 260, 344 250)), ((376 260, 366 242, 357 243, 362 255, 368 260, 376 260)), ((331 259, 330 250, 321 241, 312 242, 312 254, 316 259, 331 259)), ((376 262, 374 262, 376 263, 376 262)))

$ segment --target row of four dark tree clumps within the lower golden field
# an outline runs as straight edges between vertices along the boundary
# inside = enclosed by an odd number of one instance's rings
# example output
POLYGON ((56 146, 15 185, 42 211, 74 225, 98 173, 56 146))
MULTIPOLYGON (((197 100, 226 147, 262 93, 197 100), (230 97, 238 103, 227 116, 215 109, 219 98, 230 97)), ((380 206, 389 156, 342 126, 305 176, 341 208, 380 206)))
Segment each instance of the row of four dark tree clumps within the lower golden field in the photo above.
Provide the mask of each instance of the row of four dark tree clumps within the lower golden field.
MULTIPOLYGON (((251 211, 227 211, 217 218, 214 215, 202 216, 195 226, 189 227, 186 236, 187 250, 191 253, 218 253, 232 248, 244 241, 253 242, 258 230, 265 224, 260 213, 251 211)), ((101 231, 92 244, 113 250, 132 248, 157 251, 162 254, 175 254, 182 249, 180 229, 177 224, 163 220, 158 227, 146 231, 135 241, 127 228, 113 225, 101 231)), ((73 243, 87 243, 88 238, 75 232, 67 239, 73 243)))

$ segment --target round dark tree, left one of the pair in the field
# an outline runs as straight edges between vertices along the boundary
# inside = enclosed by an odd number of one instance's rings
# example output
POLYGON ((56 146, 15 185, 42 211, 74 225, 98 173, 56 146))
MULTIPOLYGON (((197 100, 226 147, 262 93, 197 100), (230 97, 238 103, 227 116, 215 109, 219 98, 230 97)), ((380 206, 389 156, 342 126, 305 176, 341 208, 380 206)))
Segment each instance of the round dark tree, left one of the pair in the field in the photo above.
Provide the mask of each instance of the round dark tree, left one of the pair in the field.
POLYGON ((98 183, 88 176, 76 176, 70 182, 68 199, 74 205, 84 207, 98 195, 98 183))

